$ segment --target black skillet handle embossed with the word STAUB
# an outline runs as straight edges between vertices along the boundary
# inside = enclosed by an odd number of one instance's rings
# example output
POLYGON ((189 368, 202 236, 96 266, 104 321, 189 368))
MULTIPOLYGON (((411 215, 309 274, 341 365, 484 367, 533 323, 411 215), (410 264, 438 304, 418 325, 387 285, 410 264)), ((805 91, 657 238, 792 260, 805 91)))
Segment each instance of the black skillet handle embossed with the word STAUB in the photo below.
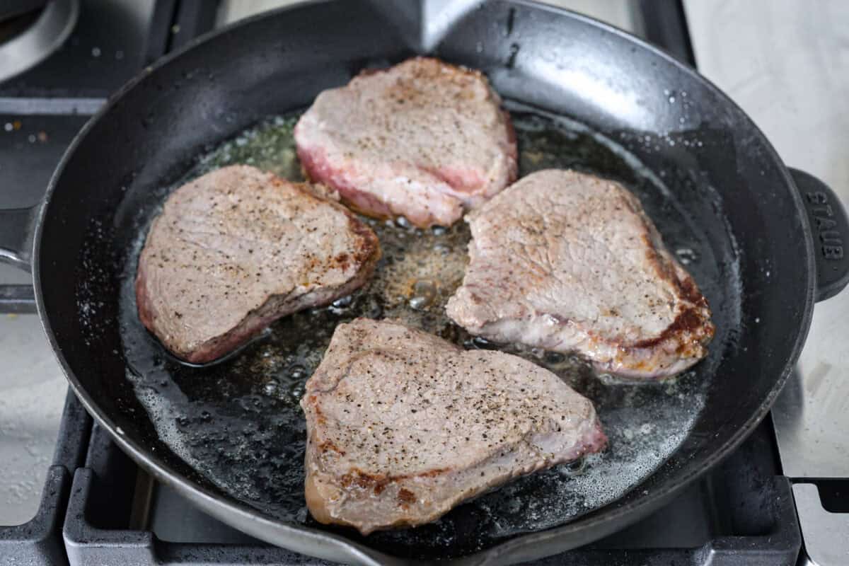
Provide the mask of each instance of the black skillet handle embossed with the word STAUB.
POLYGON ((817 177, 790 169, 811 225, 817 263, 816 300, 826 300, 849 284, 849 217, 837 194, 817 177))

